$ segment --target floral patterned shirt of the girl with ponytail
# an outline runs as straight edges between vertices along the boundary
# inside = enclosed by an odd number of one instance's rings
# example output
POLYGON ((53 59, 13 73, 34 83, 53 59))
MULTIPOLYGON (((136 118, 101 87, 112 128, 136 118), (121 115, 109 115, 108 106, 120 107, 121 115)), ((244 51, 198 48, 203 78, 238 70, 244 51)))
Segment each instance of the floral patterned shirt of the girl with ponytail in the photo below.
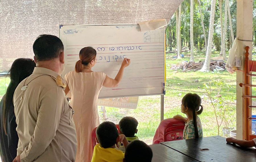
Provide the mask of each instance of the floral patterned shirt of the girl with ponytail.
MULTIPOLYGON (((197 130, 198 130, 199 137, 203 137, 202 124, 198 116, 197 116, 197 130)), ((188 140, 193 138, 195 138, 195 127, 193 124, 193 119, 191 119, 185 124, 184 130, 183 130, 183 139, 188 140)))

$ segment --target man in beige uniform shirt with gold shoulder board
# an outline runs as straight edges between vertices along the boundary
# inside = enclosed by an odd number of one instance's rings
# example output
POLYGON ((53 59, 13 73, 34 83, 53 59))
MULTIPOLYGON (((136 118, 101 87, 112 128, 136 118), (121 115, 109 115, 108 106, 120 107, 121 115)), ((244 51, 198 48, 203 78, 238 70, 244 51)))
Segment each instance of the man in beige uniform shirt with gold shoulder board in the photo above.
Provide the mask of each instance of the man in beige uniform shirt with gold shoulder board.
POLYGON ((74 162, 74 111, 60 76, 64 69, 63 44, 56 36, 40 35, 33 50, 36 68, 18 85, 13 97, 19 136, 14 161, 74 162))

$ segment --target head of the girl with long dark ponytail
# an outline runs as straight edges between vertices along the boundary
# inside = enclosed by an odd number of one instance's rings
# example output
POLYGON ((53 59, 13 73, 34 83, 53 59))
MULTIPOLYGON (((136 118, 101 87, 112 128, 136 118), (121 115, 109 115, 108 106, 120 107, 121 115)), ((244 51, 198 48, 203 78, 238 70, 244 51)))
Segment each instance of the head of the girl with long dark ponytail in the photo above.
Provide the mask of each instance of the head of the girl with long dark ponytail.
POLYGON ((197 130, 197 115, 200 115, 203 111, 203 106, 201 105, 201 97, 197 94, 189 93, 182 98, 181 103, 181 112, 185 113, 187 116, 192 115, 193 117, 195 137, 198 138, 199 135, 197 130))

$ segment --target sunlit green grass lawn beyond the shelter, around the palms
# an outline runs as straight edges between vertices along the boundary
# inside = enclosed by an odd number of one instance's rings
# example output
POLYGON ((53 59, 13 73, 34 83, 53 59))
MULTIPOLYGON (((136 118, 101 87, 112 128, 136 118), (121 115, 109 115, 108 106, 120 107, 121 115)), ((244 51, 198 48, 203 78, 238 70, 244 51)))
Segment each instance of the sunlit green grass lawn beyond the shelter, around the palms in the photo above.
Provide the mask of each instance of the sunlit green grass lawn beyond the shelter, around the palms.
MULTIPOLYGON (((255 49, 253 50, 253 53, 256 53, 255 49)), ((167 80, 166 95, 164 97, 164 118, 171 118, 177 114, 183 115, 185 117, 185 115, 180 112, 181 99, 187 93, 197 93, 202 97, 202 105, 204 107, 203 113, 199 116, 203 125, 204 136, 206 137, 217 135, 218 129, 212 105, 210 104, 207 97, 203 97, 206 93, 204 89, 205 86, 203 84, 207 83, 210 78, 221 77, 223 82, 231 86, 231 88, 223 87, 222 97, 224 97, 225 99, 228 99, 231 96, 236 97, 236 73, 230 74, 227 71, 219 73, 204 73, 199 71, 182 72, 181 70, 170 70, 172 65, 181 63, 182 61, 189 61, 190 53, 188 52, 182 54, 185 55, 185 58, 179 60, 173 59, 173 56, 175 56, 176 54, 166 54, 167 80), (195 80, 198 80, 198 82, 195 82, 195 80)), ((196 62, 204 61, 205 54, 204 52, 195 53, 194 57, 196 62)), ((220 59, 219 51, 212 51, 212 58, 220 59)), ((256 55, 253 55, 253 58, 256 59, 256 55)), ((0 96, 5 94, 5 86, 8 85, 9 81, 9 78, 0 78, 0 96)), ((256 79, 253 79, 253 82, 255 81, 256 79)), ((230 106, 235 107, 235 105, 236 101, 232 102, 230 106)), ((98 107, 98 111, 100 121, 102 122, 103 115, 101 107, 98 107)), ((156 128, 160 123, 160 95, 139 97, 137 109, 106 107, 106 116, 108 118, 108 121, 112 121, 116 124, 118 124, 119 120, 122 117, 135 117, 139 122, 137 135, 141 140, 145 141, 148 144, 151 144, 156 128)), ((230 125, 235 126, 236 120, 234 120, 230 125)), ((220 135, 222 135, 222 133, 220 133, 220 135)))

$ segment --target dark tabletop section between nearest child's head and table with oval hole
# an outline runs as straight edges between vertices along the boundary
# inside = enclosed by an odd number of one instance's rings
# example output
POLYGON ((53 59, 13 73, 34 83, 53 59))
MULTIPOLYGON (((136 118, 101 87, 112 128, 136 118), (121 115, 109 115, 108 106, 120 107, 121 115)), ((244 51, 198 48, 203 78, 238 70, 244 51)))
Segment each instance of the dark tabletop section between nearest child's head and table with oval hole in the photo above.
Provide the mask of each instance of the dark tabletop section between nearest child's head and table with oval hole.
POLYGON ((198 162, 163 144, 149 145, 153 152, 152 162, 198 162))

